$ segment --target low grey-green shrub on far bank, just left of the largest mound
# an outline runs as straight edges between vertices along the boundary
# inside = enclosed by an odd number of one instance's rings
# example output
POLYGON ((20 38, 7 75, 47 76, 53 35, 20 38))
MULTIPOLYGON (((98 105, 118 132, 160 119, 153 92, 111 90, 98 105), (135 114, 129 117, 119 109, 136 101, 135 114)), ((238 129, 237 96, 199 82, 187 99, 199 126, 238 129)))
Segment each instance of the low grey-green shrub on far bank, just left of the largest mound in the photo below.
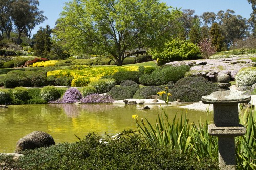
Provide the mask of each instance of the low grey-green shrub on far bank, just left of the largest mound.
POLYGON ((147 99, 150 95, 156 95, 159 91, 163 91, 163 86, 145 86, 136 91, 134 99, 147 99))

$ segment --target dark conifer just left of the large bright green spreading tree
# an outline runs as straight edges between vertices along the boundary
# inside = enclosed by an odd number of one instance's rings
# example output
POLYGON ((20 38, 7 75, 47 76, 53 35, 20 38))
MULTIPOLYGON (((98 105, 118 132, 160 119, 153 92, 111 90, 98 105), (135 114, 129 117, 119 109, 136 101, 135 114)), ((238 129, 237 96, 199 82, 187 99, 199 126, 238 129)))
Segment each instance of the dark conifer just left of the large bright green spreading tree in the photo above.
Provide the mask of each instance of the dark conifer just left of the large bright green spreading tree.
POLYGON ((34 50, 37 56, 48 57, 52 47, 51 33, 52 30, 50 26, 47 25, 46 28, 40 27, 37 33, 33 36, 33 41, 35 43, 34 50))

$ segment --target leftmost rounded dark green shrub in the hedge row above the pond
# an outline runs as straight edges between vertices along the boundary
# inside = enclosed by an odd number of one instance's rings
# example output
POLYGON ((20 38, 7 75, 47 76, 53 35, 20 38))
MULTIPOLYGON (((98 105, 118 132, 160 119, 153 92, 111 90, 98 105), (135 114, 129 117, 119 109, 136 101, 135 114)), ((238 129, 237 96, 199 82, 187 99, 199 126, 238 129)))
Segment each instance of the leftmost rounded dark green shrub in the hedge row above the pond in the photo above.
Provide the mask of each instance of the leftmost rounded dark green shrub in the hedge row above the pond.
POLYGON ((14 87, 18 87, 20 79, 22 79, 23 77, 25 77, 26 74, 24 71, 10 71, 7 72, 7 74, 4 77, 3 83, 4 86, 6 88, 14 88, 14 87))

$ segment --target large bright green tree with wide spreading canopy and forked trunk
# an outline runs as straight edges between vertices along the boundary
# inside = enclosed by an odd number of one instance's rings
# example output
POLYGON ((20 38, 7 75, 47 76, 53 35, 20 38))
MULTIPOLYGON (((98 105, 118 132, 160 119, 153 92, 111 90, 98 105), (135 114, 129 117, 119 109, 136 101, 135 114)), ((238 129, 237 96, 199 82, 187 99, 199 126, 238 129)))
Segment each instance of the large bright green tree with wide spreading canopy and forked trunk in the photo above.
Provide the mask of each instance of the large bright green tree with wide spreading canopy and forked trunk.
POLYGON ((170 21, 179 13, 159 0, 73 0, 64 7, 54 33, 73 54, 109 56, 121 66, 141 48, 170 37, 170 21))

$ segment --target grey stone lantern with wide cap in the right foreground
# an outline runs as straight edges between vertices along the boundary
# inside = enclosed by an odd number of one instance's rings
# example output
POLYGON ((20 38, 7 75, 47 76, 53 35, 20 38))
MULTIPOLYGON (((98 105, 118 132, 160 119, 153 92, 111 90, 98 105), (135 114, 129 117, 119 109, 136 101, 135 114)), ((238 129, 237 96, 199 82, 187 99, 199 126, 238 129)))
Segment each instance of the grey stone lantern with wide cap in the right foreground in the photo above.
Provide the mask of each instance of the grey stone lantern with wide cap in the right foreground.
POLYGON ((226 74, 217 76, 220 89, 208 96, 202 96, 205 104, 214 105, 214 124, 208 125, 208 132, 218 136, 219 167, 221 170, 235 169, 236 150, 234 137, 246 133, 246 128, 239 124, 238 104, 248 103, 251 96, 230 91, 230 78, 226 74))

